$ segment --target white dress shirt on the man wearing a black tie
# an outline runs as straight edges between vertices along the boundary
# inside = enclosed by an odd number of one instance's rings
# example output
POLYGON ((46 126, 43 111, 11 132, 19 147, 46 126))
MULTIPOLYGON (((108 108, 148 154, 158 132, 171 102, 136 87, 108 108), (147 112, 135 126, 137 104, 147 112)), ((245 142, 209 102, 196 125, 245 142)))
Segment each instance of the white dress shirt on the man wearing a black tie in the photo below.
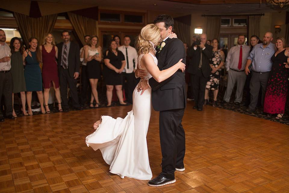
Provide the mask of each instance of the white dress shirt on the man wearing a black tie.
MULTIPOLYGON (((126 61, 126 46, 120 46, 118 47, 118 50, 120 50, 123 53, 125 61, 126 61)), ((123 69, 123 72, 132 73, 133 70, 137 68, 137 64, 138 64, 138 53, 136 52, 136 49, 132 46, 128 46, 127 56, 129 59, 129 68, 127 68, 127 61, 126 61, 126 65, 123 69), (133 68, 133 60, 135 61, 135 68, 133 68)))

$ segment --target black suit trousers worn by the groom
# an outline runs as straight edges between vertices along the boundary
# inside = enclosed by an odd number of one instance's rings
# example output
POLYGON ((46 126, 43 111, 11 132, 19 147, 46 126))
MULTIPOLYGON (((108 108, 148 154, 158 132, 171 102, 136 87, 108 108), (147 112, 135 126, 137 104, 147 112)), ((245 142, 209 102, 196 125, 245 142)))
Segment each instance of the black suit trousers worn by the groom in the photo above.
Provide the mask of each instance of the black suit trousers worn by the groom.
POLYGON ((182 118, 185 109, 160 111, 161 176, 175 179, 175 168, 184 167, 185 131, 182 118))

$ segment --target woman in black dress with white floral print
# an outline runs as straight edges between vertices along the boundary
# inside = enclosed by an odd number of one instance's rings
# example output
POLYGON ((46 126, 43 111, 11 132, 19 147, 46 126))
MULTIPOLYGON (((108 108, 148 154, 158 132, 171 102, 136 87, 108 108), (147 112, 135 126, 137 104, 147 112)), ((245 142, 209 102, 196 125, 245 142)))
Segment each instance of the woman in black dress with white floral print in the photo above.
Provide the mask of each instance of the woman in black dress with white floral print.
POLYGON ((205 90, 205 105, 209 102, 209 91, 213 90, 214 99, 213 99, 213 106, 217 105, 217 96, 219 91, 219 82, 221 79, 221 68, 224 65, 225 61, 225 54, 222 50, 219 49, 219 40, 213 39, 212 45, 213 46, 213 58, 210 59, 210 66, 211 66, 211 75, 210 80, 207 81, 206 90, 205 90))

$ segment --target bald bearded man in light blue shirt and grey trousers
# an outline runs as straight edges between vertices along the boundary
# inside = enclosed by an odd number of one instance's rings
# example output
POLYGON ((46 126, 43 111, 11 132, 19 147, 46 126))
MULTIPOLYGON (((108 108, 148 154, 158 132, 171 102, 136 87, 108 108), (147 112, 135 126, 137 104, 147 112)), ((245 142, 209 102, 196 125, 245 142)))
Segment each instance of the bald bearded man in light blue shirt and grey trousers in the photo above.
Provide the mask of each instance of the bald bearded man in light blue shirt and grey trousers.
POLYGON ((272 40, 273 34, 266 32, 263 37, 263 43, 257 44, 248 56, 245 67, 247 75, 250 73, 249 66, 252 63, 252 78, 250 81, 251 102, 247 109, 249 112, 255 111, 260 86, 262 87, 262 106, 264 103, 267 83, 272 68, 271 57, 275 53, 275 45, 271 43, 272 40))

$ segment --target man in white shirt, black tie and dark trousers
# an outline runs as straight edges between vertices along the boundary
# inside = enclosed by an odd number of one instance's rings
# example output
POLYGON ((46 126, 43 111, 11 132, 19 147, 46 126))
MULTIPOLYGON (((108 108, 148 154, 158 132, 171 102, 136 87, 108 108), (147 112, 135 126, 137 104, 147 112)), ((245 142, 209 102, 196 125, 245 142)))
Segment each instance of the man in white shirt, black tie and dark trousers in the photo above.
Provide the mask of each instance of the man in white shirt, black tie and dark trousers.
POLYGON ((118 49, 123 52, 126 66, 123 69, 123 88, 126 93, 126 102, 132 104, 132 92, 135 89, 138 82, 135 79, 135 70, 138 63, 138 53, 136 49, 132 46, 129 46, 131 40, 129 36, 124 36, 123 46, 118 47, 118 49), (125 84, 126 81, 126 84, 125 84))

